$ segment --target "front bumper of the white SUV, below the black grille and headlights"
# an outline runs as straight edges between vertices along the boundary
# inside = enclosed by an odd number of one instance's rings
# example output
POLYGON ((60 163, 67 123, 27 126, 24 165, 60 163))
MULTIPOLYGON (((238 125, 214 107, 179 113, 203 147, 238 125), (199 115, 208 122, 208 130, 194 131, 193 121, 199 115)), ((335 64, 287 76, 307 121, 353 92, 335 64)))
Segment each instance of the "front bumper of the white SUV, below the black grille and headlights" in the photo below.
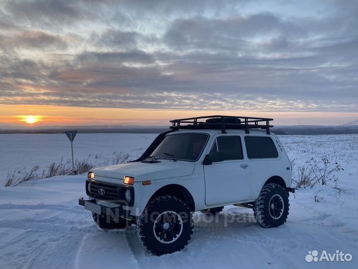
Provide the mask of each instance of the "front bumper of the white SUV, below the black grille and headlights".
POLYGON ((93 200, 85 200, 83 197, 81 197, 79 199, 79 205, 85 207, 85 209, 97 213, 97 214, 105 214, 105 215, 110 215, 111 217, 120 217, 120 218, 125 218, 125 219, 132 219, 132 217, 130 216, 130 210, 125 210, 123 209, 122 206, 118 206, 118 207, 107 207, 104 205, 98 205, 95 201, 95 199, 93 200))

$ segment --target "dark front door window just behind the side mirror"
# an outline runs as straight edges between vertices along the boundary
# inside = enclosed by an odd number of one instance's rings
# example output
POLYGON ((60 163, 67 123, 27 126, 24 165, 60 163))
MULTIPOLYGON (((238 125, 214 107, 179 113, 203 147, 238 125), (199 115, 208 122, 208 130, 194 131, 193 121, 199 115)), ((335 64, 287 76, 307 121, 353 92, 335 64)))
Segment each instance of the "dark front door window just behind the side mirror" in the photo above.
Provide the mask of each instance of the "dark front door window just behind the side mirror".
POLYGON ((217 149, 223 153, 224 160, 242 160, 244 158, 240 136, 219 136, 217 149))

